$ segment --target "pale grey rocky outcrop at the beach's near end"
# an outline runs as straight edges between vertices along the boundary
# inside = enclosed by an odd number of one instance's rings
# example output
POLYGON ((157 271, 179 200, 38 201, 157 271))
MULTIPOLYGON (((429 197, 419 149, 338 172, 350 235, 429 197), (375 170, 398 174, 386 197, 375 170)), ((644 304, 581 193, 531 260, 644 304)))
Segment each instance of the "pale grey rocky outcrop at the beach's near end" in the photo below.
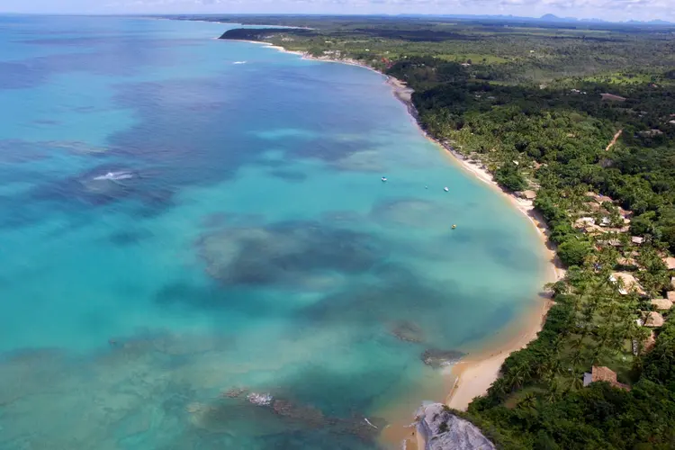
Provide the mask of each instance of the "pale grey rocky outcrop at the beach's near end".
POLYGON ((418 410, 417 430, 425 450, 494 450, 495 446, 468 420, 455 416, 446 405, 432 403, 418 410))

